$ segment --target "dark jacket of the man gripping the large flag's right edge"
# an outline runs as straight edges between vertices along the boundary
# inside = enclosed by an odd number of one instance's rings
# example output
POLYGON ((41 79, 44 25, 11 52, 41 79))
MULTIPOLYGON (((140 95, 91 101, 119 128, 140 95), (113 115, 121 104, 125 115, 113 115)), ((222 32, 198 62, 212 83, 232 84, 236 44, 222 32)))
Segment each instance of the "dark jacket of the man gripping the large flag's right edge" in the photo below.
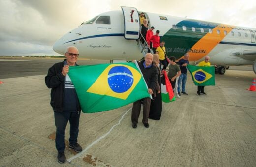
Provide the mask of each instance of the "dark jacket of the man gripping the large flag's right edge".
POLYGON ((145 60, 139 62, 139 68, 143 74, 143 77, 148 85, 148 88, 154 92, 158 82, 158 69, 152 64, 150 68, 144 68, 143 63, 145 60))

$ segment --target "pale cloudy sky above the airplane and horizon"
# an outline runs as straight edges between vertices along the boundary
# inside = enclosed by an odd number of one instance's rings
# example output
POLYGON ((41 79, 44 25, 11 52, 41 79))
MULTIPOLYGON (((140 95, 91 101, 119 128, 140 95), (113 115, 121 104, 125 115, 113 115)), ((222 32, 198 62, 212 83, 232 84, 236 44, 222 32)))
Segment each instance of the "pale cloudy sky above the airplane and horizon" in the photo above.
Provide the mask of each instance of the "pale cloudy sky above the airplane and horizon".
POLYGON ((256 28, 255 0, 0 0, 0 55, 58 55, 66 32, 120 6, 256 28))

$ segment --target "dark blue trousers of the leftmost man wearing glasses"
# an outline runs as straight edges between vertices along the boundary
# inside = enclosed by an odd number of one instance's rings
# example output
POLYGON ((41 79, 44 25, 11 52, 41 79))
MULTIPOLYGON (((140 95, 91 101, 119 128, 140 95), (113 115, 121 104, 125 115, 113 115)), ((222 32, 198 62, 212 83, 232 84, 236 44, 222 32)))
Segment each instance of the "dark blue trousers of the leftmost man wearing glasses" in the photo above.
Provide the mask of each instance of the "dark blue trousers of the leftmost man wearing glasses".
POLYGON ((64 152, 65 150, 65 129, 67 122, 69 121, 69 144, 74 145, 77 143, 78 127, 79 127, 79 111, 77 112, 56 112, 54 111, 55 126, 56 126, 56 138, 55 146, 58 152, 64 152))

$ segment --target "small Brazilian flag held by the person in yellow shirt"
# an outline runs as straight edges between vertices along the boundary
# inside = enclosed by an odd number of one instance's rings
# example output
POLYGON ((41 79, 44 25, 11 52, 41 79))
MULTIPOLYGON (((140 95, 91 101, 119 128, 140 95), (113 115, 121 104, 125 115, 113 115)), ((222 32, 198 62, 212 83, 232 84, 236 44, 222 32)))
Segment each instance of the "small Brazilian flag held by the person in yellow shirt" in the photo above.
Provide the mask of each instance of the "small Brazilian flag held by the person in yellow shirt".
POLYGON ((215 67, 187 66, 196 86, 215 85, 215 67))

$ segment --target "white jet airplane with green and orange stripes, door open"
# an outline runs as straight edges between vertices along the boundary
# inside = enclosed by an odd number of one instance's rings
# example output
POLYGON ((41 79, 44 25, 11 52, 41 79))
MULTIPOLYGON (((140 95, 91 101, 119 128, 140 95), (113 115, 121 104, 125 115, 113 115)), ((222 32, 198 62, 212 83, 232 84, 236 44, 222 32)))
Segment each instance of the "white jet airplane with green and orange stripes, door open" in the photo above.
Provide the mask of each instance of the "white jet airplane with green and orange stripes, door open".
MULTIPOLYGON (((67 46, 76 46, 79 57, 110 60, 110 62, 139 60, 145 50, 139 42, 139 11, 121 7, 82 23, 61 37, 53 50, 64 55, 67 46)), ((229 65, 253 65, 256 74, 256 29, 220 23, 143 12, 149 28, 159 30, 165 41, 166 54, 176 60, 189 53, 193 64, 210 56, 218 65, 217 73, 224 74, 229 65)))

